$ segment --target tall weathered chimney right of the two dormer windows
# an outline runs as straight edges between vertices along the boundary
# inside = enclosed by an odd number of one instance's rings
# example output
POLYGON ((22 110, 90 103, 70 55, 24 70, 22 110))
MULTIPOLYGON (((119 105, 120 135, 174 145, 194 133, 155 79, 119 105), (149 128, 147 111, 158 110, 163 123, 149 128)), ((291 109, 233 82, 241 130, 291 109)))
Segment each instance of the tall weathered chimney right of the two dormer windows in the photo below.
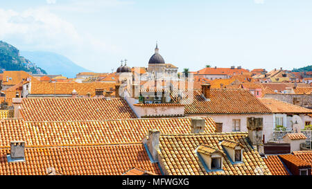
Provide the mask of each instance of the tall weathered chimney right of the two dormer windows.
POLYGON ((258 150, 259 154, 263 154, 263 118, 247 118, 247 129, 252 146, 258 150))

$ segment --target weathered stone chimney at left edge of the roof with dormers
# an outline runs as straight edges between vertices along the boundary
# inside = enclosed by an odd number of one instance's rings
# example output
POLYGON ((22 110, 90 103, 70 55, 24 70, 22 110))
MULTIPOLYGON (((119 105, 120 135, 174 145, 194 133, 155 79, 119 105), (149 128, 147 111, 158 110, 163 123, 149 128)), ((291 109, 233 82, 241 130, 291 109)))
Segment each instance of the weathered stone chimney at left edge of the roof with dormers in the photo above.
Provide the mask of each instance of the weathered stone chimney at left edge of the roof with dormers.
POLYGON ((157 161, 157 155, 159 150, 159 131, 157 129, 152 129, 148 132, 148 141, 147 141, 147 147, 148 151, 153 157, 154 161, 157 161))

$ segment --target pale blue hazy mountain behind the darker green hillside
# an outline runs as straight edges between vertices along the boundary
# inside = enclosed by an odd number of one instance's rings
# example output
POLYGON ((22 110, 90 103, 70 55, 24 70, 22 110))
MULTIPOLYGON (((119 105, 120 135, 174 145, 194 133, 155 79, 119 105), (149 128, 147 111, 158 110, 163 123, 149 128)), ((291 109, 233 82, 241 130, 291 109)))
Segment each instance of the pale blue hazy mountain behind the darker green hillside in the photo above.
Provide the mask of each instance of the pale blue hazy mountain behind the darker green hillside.
POLYGON ((79 72, 89 71, 73 63, 67 57, 56 53, 44 51, 21 51, 21 55, 27 57, 49 74, 62 74, 67 78, 75 78, 79 72))

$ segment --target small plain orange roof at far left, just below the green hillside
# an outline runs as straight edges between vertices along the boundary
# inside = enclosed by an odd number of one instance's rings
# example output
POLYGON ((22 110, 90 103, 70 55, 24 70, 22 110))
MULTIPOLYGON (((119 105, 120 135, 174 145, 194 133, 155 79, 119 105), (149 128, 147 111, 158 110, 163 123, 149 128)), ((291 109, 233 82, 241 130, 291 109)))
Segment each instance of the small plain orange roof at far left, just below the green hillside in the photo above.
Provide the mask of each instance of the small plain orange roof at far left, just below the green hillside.
POLYGON ((26 78, 31 78, 32 82, 40 82, 25 71, 3 71, 2 84, 15 85, 19 84, 23 79, 26 80, 26 78), (6 78, 8 78, 8 82, 6 81, 6 78), (12 78, 12 80, 10 80, 10 78, 12 78))

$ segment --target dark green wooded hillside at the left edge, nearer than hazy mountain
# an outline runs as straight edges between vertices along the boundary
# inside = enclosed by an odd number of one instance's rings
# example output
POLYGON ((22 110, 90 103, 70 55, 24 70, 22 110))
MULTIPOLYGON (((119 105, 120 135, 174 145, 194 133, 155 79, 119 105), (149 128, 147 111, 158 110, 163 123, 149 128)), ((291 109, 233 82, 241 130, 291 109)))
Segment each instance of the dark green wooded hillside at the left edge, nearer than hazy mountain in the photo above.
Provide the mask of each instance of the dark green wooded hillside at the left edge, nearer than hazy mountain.
POLYGON ((33 65, 33 62, 20 56, 17 48, 2 41, 0 41, 0 69, 5 69, 6 71, 46 73, 40 67, 33 65))

